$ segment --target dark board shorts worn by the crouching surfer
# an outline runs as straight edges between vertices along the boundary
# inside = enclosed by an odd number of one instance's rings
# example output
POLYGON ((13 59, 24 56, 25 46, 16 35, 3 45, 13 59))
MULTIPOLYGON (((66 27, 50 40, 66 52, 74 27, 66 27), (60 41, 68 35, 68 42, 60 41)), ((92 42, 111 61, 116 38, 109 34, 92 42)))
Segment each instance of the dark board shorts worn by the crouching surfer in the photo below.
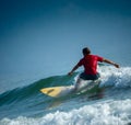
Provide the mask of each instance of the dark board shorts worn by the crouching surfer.
POLYGON ((86 75, 85 72, 82 72, 80 78, 83 80, 97 80, 100 78, 100 75, 98 72, 96 75, 86 75))

